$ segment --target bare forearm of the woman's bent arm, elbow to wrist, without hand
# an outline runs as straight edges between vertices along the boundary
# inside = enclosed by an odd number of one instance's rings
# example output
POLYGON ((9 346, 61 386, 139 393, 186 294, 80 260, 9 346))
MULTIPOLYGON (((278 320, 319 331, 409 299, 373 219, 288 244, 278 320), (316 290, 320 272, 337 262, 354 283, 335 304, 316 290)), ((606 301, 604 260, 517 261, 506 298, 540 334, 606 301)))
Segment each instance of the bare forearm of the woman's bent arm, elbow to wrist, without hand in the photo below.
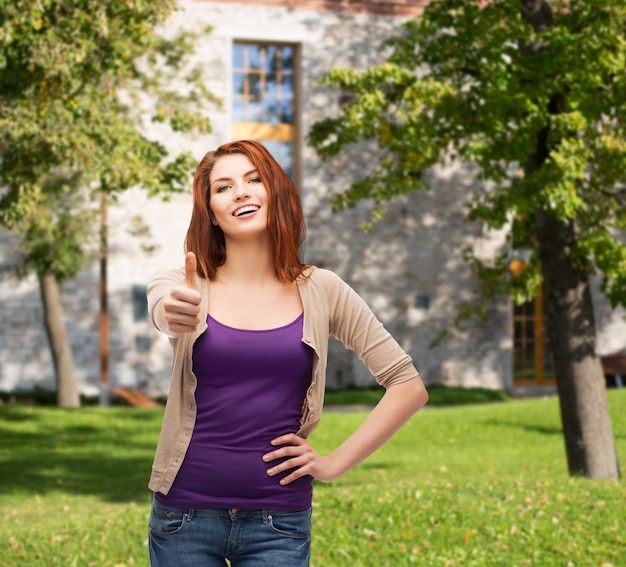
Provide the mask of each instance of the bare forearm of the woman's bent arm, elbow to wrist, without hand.
POLYGON ((384 445, 427 401, 419 377, 390 386, 361 426, 331 453, 333 477, 348 472, 384 445))

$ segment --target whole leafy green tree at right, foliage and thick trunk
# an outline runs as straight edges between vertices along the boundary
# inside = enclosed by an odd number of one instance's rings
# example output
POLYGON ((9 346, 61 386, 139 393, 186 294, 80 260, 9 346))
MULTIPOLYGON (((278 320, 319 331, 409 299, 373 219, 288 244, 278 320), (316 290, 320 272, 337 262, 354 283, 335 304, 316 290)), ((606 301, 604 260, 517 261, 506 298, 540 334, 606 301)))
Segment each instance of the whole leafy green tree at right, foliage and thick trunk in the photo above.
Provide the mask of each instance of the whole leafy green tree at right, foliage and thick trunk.
POLYGON ((385 63, 324 80, 353 98, 313 125, 319 155, 361 139, 381 153, 334 205, 369 199, 376 216, 426 189, 417 173, 434 164, 476 164, 493 188, 468 196, 469 219, 508 227, 510 241, 515 224, 530 260, 515 278, 508 250, 488 264, 467 251, 482 300, 460 306, 456 323, 496 295, 521 302, 543 285, 569 471, 618 477, 589 280, 626 305, 626 5, 439 0, 386 47, 385 63))

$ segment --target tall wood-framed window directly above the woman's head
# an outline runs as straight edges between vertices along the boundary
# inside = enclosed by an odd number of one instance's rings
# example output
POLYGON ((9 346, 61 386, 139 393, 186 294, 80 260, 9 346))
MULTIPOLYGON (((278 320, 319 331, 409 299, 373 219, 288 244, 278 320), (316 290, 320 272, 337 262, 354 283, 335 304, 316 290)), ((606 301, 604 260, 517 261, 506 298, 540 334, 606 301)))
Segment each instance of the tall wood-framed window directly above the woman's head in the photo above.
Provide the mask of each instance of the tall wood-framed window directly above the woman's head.
POLYGON ((233 45, 232 136, 264 144, 295 181, 296 48, 233 45))

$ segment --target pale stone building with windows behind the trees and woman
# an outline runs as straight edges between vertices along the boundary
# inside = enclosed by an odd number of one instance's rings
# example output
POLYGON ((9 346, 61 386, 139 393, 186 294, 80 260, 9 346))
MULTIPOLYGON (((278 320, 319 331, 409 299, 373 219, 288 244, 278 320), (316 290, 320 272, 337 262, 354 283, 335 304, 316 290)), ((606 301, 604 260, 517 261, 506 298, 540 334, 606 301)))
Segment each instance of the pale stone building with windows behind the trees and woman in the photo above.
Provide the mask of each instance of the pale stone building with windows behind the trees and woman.
MULTIPOLYGON (((321 163, 306 145, 310 125, 340 110, 341 93, 318 80, 336 66, 364 70, 382 61, 384 38, 421 11, 425 0, 184 0, 169 26, 213 31, 197 45, 207 86, 223 101, 210 115, 213 133, 167 136, 175 149, 198 159, 231 139, 264 142, 296 180, 308 225, 305 261, 330 268, 370 304, 429 384, 515 390, 550 389, 543 349, 541 308, 494 302, 484 323, 470 323, 436 348, 431 341, 450 327, 455 305, 475 285, 461 258, 466 246, 485 258, 506 242, 465 221, 464 200, 480 188, 471 169, 427 173, 433 189, 398 199, 369 234, 359 226, 366 205, 332 213, 329 196, 358 179, 372 152, 367 145, 321 163), (534 329, 530 332, 530 329, 534 329)), ((190 188, 191 189, 191 188, 190 188)), ((168 202, 129 191, 109 209, 109 372, 112 385, 167 391, 168 341, 147 320, 145 289, 157 272, 183 263, 190 190, 168 202)), ((0 235, 10 257, 12 239, 0 235)), ((62 287, 66 325, 83 391, 96 392, 99 370, 99 267, 94 261, 62 287)), ((626 346, 623 312, 596 294, 598 346, 609 354, 626 346)), ((51 386, 53 370, 34 278, 0 280, 0 389, 51 386)), ((361 362, 331 344, 329 387, 373 383, 361 362)))

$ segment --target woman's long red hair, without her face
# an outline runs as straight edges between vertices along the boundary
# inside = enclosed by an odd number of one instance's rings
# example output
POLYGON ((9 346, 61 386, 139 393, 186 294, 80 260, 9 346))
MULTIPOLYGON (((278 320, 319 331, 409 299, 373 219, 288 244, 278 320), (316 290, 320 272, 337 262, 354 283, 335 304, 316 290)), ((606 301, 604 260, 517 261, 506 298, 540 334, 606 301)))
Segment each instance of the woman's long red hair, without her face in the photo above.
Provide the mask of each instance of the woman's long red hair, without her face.
POLYGON ((283 283, 293 282, 307 267, 298 255, 306 235, 300 197, 291 179, 267 149, 252 140, 222 144, 200 160, 193 179, 193 210, 185 237, 185 252, 196 255, 198 275, 209 280, 216 278, 217 269, 226 261, 224 233, 211 222, 209 188, 217 160, 232 154, 245 155, 259 172, 269 196, 267 230, 276 276, 283 283))

